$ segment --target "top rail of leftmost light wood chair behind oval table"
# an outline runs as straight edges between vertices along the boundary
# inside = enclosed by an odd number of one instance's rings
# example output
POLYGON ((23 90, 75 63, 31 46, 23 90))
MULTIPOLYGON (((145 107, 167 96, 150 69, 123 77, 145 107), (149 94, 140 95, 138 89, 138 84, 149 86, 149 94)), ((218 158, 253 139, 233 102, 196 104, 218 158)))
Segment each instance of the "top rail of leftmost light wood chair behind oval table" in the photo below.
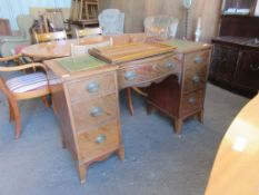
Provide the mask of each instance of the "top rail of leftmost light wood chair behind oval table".
POLYGON ((37 43, 49 42, 52 40, 66 40, 68 38, 64 30, 58 32, 49 32, 49 33, 37 33, 37 32, 33 33, 37 43))

